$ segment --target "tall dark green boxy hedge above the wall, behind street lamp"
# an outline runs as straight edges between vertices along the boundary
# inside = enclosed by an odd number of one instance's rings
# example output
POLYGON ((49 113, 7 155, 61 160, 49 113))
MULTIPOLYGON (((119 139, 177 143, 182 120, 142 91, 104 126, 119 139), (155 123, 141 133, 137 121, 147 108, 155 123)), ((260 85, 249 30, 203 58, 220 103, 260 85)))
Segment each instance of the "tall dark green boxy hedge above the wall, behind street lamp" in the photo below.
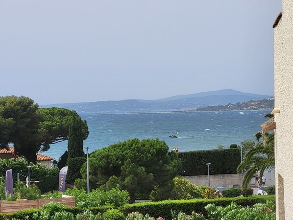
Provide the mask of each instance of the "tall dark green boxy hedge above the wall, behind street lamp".
POLYGON ((179 152, 182 168, 180 175, 206 175, 207 163, 211 163, 210 174, 232 174, 237 173, 236 169, 241 162, 240 148, 197 150, 179 152))

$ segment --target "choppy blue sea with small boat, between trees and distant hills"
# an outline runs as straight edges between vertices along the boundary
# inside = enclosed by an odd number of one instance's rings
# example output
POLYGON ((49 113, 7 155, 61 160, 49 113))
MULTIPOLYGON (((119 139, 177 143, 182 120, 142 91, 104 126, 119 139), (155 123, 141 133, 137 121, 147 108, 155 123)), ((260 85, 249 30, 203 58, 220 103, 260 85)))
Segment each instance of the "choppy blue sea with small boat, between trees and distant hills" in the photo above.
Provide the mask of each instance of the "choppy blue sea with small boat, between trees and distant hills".
MULTIPOLYGON (((133 138, 159 138, 167 143, 169 150, 177 147, 179 152, 240 145, 245 140, 256 141, 254 134, 261 130, 260 124, 267 121, 264 116, 268 113, 269 110, 78 114, 89 127, 84 148, 88 147, 90 153, 133 138), (169 137, 172 134, 178 137, 169 137)), ((67 144, 67 141, 53 144, 42 153, 58 161, 67 144)))

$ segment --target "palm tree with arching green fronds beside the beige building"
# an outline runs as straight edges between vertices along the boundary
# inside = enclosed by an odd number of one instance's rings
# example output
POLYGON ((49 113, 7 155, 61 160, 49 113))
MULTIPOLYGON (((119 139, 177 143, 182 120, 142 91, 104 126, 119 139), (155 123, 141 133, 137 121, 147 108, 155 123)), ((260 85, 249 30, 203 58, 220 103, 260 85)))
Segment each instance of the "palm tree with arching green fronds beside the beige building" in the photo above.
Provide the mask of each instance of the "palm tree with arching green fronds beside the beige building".
MULTIPOLYGON (((273 114, 267 114, 265 118, 272 118, 273 114)), ((259 141, 262 138, 262 133, 258 132, 254 135, 259 141)), ((266 147, 263 142, 259 142, 256 146, 250 148, 244 155, 243 161, 237 168, 237 172, 245 172, 242 181, 242 188, 246 189, 248 184, 255 175, 259 173, 262 176, 265 171, 271 171, 275 168, 275 152, 274 152, 274 133, 265 133, 266 147)))

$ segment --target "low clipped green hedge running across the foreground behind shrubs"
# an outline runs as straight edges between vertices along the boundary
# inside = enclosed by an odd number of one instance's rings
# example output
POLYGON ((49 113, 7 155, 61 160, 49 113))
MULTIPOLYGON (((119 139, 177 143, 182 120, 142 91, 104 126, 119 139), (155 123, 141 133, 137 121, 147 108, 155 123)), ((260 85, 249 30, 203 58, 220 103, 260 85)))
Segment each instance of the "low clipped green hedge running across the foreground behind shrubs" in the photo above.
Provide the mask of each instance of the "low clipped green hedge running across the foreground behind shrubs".
MULTIPOLYGON (((191 214, 192 211, 206 215, 204 207, 207 204, 213 203, 217 206, 226 206, 235 202, 242 206, 253 206, 256 203, 266 203, 267 200, 275 201, 274 195, 269 196, 248 196, 248 197, 235 197, 235 198, 216 198, 216 199, 192 199, 192 200, 166 200, 161 202, 143 202, 129 205, 123 205, 118 208, 124 216, 132 212, 140 212, 142 214, 149 214, 153 217, 163 217, 171 219, 171 210, 182 211, 186 214, 191 214)), ((112 206, 92 207, 90 211, 93 214, 105 213, 107 210, 113 209, 112 206)), ((32 216, 34 212, 40 212, 42 209, 30 209, 11 214, 0 214, 0 220, 12 220, 12 218, 24 220, 24 216, 32 216)), ((71 212, 74 215, 82 213, 84 210, 77 207, 66 207, 66 212, 71 212)))

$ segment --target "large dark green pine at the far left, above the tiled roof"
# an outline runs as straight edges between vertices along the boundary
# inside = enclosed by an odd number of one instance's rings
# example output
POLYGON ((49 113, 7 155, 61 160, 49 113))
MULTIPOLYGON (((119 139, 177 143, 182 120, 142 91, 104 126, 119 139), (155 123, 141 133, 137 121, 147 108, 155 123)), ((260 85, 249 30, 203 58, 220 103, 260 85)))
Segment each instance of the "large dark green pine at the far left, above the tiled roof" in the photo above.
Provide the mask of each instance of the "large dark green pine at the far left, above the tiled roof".
POLYGON ((0 148, 8 147, 11 142, 17 153, 30 161, 36 160, 38 150, 32 142, 40 138, 38 107, 28 97, 0 97, 0 148))

